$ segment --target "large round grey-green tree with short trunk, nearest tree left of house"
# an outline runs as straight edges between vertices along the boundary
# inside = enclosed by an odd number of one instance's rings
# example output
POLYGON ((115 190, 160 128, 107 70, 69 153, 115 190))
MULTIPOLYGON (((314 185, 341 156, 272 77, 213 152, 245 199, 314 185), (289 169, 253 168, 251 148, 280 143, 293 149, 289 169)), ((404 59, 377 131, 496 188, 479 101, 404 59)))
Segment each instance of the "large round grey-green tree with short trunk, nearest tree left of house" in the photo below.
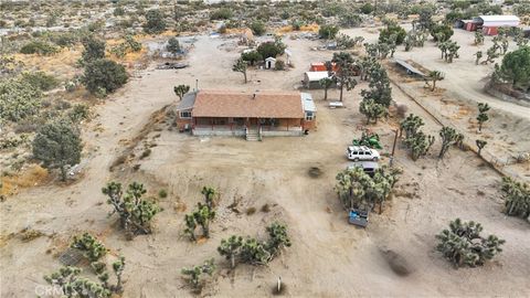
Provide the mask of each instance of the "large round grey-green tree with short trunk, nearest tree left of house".
POLYGON ((66 180, 66 167, 81 161, 80 129, 70 121, 59 120, 41 127, 33 139, 33 157, 46 169, 61 170, 61 179, 66 180))

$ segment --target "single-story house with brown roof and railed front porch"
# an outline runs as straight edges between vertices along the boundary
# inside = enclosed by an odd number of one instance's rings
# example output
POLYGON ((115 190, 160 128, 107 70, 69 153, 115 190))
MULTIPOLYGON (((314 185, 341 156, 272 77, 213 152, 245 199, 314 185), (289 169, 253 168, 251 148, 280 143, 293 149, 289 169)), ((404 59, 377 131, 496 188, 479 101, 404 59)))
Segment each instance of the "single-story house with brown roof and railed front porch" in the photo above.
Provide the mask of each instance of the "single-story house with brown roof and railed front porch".
POLYGON ((194 136, 301 136, 316 126, 308 93, 198 91, 177 105, 177 126, 194 136))

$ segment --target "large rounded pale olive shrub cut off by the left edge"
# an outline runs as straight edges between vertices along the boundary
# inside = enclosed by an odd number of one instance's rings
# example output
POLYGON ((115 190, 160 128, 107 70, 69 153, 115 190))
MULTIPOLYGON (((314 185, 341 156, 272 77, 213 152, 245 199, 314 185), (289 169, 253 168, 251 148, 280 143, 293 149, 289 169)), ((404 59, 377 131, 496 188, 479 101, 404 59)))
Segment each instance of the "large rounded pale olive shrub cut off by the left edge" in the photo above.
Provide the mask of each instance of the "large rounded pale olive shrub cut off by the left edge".
POLYGON ((19 121, 34 115, 41 107, 42 93, 30 83, 9 78, 0 81, 0 123, 19 121))

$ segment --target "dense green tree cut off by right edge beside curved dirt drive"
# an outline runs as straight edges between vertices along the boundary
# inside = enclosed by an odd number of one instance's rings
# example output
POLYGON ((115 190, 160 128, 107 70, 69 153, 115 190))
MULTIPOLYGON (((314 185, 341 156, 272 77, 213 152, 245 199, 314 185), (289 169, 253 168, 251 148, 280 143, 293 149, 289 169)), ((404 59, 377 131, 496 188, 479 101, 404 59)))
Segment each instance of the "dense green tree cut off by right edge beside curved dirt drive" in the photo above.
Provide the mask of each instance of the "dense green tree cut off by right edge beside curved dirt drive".
POLYGON ((500 66, 500 76, 513 87, 530 91, 530 46, 506 54, 500 66))

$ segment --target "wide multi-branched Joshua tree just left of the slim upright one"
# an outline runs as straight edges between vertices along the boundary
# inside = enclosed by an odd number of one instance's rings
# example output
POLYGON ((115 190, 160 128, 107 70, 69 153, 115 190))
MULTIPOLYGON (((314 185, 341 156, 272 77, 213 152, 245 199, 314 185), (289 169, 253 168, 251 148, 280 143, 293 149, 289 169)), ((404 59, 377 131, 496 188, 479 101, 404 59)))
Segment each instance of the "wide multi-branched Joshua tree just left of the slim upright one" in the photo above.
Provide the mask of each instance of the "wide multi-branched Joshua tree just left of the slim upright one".
POLYGON ((141 198, 147 192, 144 184, 132 182, 124 194, 121 183, 109 182, 102 192, 108 196, 107 203, 114 206, 110 215, 118 213, 127 233, 151 233, 150 222, 162 209, 141 198))

